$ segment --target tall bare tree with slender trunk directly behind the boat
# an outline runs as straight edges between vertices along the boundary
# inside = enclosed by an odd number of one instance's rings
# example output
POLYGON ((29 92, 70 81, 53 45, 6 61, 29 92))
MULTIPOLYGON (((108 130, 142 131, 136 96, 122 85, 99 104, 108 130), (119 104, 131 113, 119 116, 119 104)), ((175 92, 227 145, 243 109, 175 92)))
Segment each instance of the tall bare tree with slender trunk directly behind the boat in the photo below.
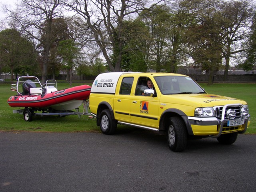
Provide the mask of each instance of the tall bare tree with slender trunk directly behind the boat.
POLYGON ((62 16, 59 0, 20 0, 17 10, 12 11, 5 7, 5 12, 14 20, 16 27, 37 40, 42 47, 42 82, 46 81, 49 54, 52 44, 58 39, 57 34, 62 31, 52 33, 54 18, 62 16))

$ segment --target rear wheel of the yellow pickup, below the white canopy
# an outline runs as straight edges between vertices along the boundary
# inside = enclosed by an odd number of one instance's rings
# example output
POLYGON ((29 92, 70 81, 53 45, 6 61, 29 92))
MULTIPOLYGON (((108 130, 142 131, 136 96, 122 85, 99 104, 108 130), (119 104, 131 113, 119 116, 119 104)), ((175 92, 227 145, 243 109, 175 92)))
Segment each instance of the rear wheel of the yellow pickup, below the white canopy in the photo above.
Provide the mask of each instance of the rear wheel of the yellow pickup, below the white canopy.
POLYGON ((106 135, 114 134, 117 122, 111 118, 110 110, 105 109, 100 113, 100 129, 106 135))

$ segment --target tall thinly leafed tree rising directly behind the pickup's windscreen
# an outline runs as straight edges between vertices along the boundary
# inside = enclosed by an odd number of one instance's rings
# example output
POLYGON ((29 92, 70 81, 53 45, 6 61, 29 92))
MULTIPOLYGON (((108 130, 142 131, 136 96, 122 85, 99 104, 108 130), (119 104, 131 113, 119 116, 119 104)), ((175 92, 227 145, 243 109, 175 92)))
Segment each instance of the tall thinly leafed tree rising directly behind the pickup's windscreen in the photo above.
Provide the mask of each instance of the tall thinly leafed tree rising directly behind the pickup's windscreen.
POLYGON ((176 0, 170 6, 170 47, 166 60, 166 71, 176 73, 178 65, 188 64, 190 50, 187 47, 186 30, 198 20, 194 14, 200 11, 200 1, 176 0))

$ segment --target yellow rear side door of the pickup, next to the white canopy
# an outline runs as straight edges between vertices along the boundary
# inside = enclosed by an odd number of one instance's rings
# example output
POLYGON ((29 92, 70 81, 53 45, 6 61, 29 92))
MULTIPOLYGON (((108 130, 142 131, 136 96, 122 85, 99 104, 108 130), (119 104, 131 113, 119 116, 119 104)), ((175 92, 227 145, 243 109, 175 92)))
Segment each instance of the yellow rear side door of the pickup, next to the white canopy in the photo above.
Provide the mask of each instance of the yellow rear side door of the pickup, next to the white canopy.
POLYGON ((131 121, 130 117, 130 94, 134 77, 124 77, 118 93, 114 98, 114 116, 116 120, 131 121))

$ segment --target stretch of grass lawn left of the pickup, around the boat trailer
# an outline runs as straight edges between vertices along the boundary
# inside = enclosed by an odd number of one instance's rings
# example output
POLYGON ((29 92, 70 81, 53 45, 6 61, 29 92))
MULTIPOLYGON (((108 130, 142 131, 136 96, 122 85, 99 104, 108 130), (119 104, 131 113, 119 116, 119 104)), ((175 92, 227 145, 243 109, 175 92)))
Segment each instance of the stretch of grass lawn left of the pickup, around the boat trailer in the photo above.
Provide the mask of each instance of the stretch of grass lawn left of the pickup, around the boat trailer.
MULTIPOLYGON (((72 84, 78 86, 81 83, 72 84)), ((91 85, 91 84, 89 84, 91 85)), ((81 118, 78 115, 66 117, 59 116, 35 116, 31 122, 26 122, 22 114, 13 114, 12 108, 7 104, 10 96, 16 95, 16 92, 10 90, 10 84, 0 84, 0 130, 25 130, 37 132, 100 132, 96 126, 96 119, 84 115, 81 118)), ((58 90, 69 88, 68 83, 58 83, 58 90)), ((20 108, 23 109, 23 108, 20 108)), ((83 105, 79 107, 79 112, 83 112, 83 105)))

